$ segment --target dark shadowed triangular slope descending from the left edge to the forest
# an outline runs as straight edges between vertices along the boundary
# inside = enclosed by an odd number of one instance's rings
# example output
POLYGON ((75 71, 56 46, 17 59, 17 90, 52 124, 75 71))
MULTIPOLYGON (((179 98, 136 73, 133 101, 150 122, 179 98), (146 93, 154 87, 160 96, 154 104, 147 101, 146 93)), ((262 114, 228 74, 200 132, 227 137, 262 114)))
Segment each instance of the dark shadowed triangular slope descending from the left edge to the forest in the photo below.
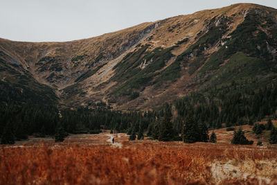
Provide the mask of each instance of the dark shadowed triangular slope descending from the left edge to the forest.
POLYGON ((31 100, 37 105, 57 105, 53 89, 40 84, 17 60, 0 51, 0 104, 21 104, 31 100))

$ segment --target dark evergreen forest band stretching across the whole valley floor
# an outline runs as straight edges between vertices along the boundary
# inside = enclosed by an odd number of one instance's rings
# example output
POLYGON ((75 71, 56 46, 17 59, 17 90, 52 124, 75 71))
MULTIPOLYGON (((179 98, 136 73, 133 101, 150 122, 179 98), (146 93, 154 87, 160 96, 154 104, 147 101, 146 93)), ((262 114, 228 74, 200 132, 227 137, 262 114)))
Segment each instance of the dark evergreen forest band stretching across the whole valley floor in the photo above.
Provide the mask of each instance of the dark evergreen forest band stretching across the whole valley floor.
MULTIPOLYGON (((56 141, 62 141, 68 134, 98 134, 102 129, 125 132, 130 140, 148 136, 160 141, 214 142, 216 136, 214 133, 208 136, 209 129, 253 125, 265 116, 275 116, 276 96, 276 84, 243 93, 220 91, 208 96, 193 93, 172 104, 177 116, 172 116, 172 105, 168 103, 152 112, 120 112, 101 107, 58 109, 55 105, 37 105, 31 101, 22 105, 1 104, 1 143, 14 143, 29 135, 54 136, 56 141)), ((260 133, 264 129, 262 125, 254 125, 253 132, 260 133)), ((273 130, 271 143, 275 142, 274 129, 272 124, 267 125, 267 130, 273 130)))

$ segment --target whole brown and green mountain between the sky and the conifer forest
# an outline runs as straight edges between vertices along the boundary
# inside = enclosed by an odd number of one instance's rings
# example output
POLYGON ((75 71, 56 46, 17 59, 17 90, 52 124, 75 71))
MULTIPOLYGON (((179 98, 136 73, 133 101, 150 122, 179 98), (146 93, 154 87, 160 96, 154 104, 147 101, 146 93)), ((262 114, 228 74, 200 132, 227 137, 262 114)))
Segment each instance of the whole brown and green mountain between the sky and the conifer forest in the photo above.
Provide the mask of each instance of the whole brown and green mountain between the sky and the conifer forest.
POLYGON ((0 100, 153 109, 271 85, 276 60, 277 10, 239 3, 71 42, 0 39, 0 100))

